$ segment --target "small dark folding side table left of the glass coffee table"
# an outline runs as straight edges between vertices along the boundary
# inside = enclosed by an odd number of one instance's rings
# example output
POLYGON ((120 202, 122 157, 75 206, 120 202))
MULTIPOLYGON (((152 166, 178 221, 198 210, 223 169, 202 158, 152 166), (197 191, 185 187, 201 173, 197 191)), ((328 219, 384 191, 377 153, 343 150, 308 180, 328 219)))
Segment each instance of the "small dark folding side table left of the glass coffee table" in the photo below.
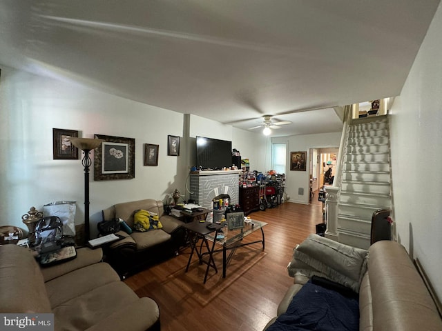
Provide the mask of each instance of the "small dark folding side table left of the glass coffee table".
POLYGON ((193 252, 196 252, 198 255, 198 260, 200 264, 204 263, 207 265, 206 274, 204 275, 204 284, 207 280, 207 275, 209 274, 209 268, 213 268, 215 272, 218 272, 218 269, 215 265, 215 260, 213 260, 213 250, 215 248, 215 241, 213 241, 212 246, 209 246, 209 241, 207 241, 206 235, 212 232, 215 232, 215 238, 218 235, 218 231, 223 227, 223 225, 213 224, 215 228, 208 229, 206 228, 207 224, 212 224, 208 222, 200 222, 198 220, 192 221, 191 223, 185 223, 183 228, 187 230, 189 235, 189 242, 191 245, 191 255, 189 257, 189 261, 187 262, 186 272, 189 270, 189 265, 191 264, 193 252), (197 247, 198 241, 201 239, 200 248, 197 247), (206 249, 206 252, 203 252, 203 246, 206 249), (204 255, 209 255, 209 260, 205 261, 203 259, 204 255))

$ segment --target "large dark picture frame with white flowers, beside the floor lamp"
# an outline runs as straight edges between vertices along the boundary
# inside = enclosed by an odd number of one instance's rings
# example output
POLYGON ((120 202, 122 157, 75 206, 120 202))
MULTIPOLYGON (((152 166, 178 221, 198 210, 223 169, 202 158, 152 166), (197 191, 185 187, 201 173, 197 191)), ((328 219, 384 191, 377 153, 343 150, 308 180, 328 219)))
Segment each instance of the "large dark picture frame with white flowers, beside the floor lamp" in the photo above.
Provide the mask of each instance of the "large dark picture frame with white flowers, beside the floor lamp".
POLYGON ((94 180, 135 178, 135 139, 95 134, 104 143, 95 149, 94 180))

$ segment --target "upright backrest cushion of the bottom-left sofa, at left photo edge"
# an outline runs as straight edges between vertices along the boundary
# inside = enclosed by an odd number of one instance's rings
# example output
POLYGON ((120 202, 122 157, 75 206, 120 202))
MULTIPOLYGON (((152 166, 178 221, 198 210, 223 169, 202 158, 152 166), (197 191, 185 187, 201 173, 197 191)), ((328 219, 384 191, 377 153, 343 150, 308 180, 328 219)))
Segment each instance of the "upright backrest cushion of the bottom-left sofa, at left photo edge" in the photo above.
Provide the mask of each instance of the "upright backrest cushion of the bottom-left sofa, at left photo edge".
POLYGON ((0 245, 0 312, 51 312, 40 267, 27 248, 0 245))

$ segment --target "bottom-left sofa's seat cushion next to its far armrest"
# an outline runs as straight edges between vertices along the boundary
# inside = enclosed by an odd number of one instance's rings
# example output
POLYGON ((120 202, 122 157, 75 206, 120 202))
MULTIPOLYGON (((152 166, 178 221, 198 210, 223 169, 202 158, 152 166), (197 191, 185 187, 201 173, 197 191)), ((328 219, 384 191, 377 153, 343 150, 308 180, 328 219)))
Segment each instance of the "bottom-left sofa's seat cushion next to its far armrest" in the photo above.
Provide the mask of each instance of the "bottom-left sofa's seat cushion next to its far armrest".
POLYGON ((46 289, 52 308, 73 298, 90 292, 94 288, 120 281, 111 265, 96 263, 85 268, 73 270, 63 277, 46 282, 46 289))

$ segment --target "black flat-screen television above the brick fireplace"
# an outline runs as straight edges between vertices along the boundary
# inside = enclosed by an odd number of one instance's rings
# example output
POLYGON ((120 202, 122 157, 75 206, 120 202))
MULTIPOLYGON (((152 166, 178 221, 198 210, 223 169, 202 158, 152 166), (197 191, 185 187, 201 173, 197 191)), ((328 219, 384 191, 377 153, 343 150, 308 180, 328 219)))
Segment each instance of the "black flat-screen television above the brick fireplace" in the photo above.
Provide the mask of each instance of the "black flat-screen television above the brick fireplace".
POLYGON ((196 137, 196 166, 203 169, 221 170, 232 165, 232 142, 196 137))

